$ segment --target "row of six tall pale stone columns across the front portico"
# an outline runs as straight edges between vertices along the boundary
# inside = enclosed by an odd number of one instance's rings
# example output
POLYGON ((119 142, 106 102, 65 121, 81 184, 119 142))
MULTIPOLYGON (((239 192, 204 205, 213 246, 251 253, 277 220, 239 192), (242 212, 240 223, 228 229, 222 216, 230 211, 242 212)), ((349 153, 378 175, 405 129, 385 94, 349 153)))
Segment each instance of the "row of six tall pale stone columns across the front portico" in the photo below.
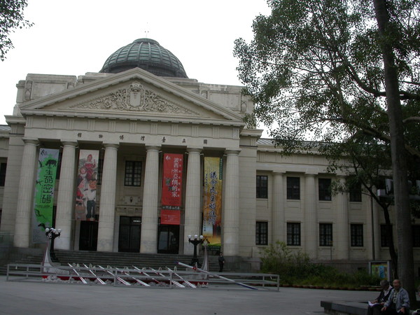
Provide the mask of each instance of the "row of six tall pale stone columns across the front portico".
MULTIPOLYGON (((38 140, 24 139, 22 170, 15 218, 14 245, 30 246, 33 191, 36 174, 38 140)), ((61 237, 55 239, 55 248, 71 249, 71 229, 76 185, 76 141, 62 141, 62 163, 57 193, 55 228, 62 229, 61 237)), ((104 144, 104 168, 102 173, 97 251, 114 251, 114 226, 116 211, 116 179, 118 144, 104 144)), ((141 253, 156 253, 158 248, 159 209, 159 151, 160 146, 146 146, 144 169, 144 199, 141 214, 141 253)), ((187 148, 186 201, 184 235, 196 235, 201 229, 201 169, 202 148, 187 148)), ((239 151, 227 150, 224 208, 223 251, 225 255, 239 255, 239 151)), ((184 253, 192 253, 188 240, 184 241, 184 253)))

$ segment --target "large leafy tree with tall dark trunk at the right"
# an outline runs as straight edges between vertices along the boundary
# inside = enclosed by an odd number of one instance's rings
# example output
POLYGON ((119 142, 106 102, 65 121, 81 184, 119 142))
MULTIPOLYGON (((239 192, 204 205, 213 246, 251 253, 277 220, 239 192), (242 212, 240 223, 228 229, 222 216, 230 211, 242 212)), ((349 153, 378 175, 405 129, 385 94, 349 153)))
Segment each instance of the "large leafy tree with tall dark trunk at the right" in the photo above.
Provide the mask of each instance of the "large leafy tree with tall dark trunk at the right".
POLYGON ((271 136, 284 153, 308 151, 314 141, 345 142, 357 132, 393 146, 398 271, 414 297, 404 158, 420 158, 419 137, 411 134, 420 122, 420 1, 267 2, 272 13, 255 18, 253 41, 235 41, 255 118, 280 126, 271 136))

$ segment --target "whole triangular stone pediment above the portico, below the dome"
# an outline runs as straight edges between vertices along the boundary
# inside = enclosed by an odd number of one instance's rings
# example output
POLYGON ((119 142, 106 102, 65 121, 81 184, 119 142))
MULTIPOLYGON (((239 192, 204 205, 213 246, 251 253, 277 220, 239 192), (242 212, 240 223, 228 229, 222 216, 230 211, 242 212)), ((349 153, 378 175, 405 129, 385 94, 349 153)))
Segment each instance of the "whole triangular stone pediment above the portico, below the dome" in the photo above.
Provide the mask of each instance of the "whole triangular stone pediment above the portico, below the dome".
POLYGON ((241 123, 241 116, 142 69, 111 74, 71 90, 24 104, 22 115, 100 118, 215 120, 241 123))

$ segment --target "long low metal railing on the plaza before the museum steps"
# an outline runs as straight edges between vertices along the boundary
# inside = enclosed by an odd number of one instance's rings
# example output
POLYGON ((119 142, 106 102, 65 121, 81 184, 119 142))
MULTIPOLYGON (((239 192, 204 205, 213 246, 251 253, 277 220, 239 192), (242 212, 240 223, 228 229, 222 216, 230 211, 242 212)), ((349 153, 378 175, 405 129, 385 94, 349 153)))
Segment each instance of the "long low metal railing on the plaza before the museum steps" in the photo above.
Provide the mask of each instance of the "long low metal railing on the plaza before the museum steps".
MULTIPOLYGON (((278 274, 261 273, 202 273, 193 269, 153 269, 135 266, 116 268, 111 266, 69 265, 44 267, 34 264, 10 263, 7 265, 6 281, 28 279, 80 280, 85 284, 112 284, 113 286, 167 286, 168 288, 196 288, 212 284, 239 285, 246 288, 276 288, 279 290, 278 274)), ((70 281, 69 281, 70 282, 70 281)))

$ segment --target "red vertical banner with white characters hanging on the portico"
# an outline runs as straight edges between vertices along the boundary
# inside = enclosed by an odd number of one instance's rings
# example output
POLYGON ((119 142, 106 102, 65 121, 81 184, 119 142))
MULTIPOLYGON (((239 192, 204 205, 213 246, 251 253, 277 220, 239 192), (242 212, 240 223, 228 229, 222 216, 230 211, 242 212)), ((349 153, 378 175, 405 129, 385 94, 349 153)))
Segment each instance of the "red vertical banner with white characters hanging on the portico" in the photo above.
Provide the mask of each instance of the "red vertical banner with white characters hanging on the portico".
POLYGON ((181 222, 183 155, 163 155, 162 210, 160 224, 179 225, 181 222))

